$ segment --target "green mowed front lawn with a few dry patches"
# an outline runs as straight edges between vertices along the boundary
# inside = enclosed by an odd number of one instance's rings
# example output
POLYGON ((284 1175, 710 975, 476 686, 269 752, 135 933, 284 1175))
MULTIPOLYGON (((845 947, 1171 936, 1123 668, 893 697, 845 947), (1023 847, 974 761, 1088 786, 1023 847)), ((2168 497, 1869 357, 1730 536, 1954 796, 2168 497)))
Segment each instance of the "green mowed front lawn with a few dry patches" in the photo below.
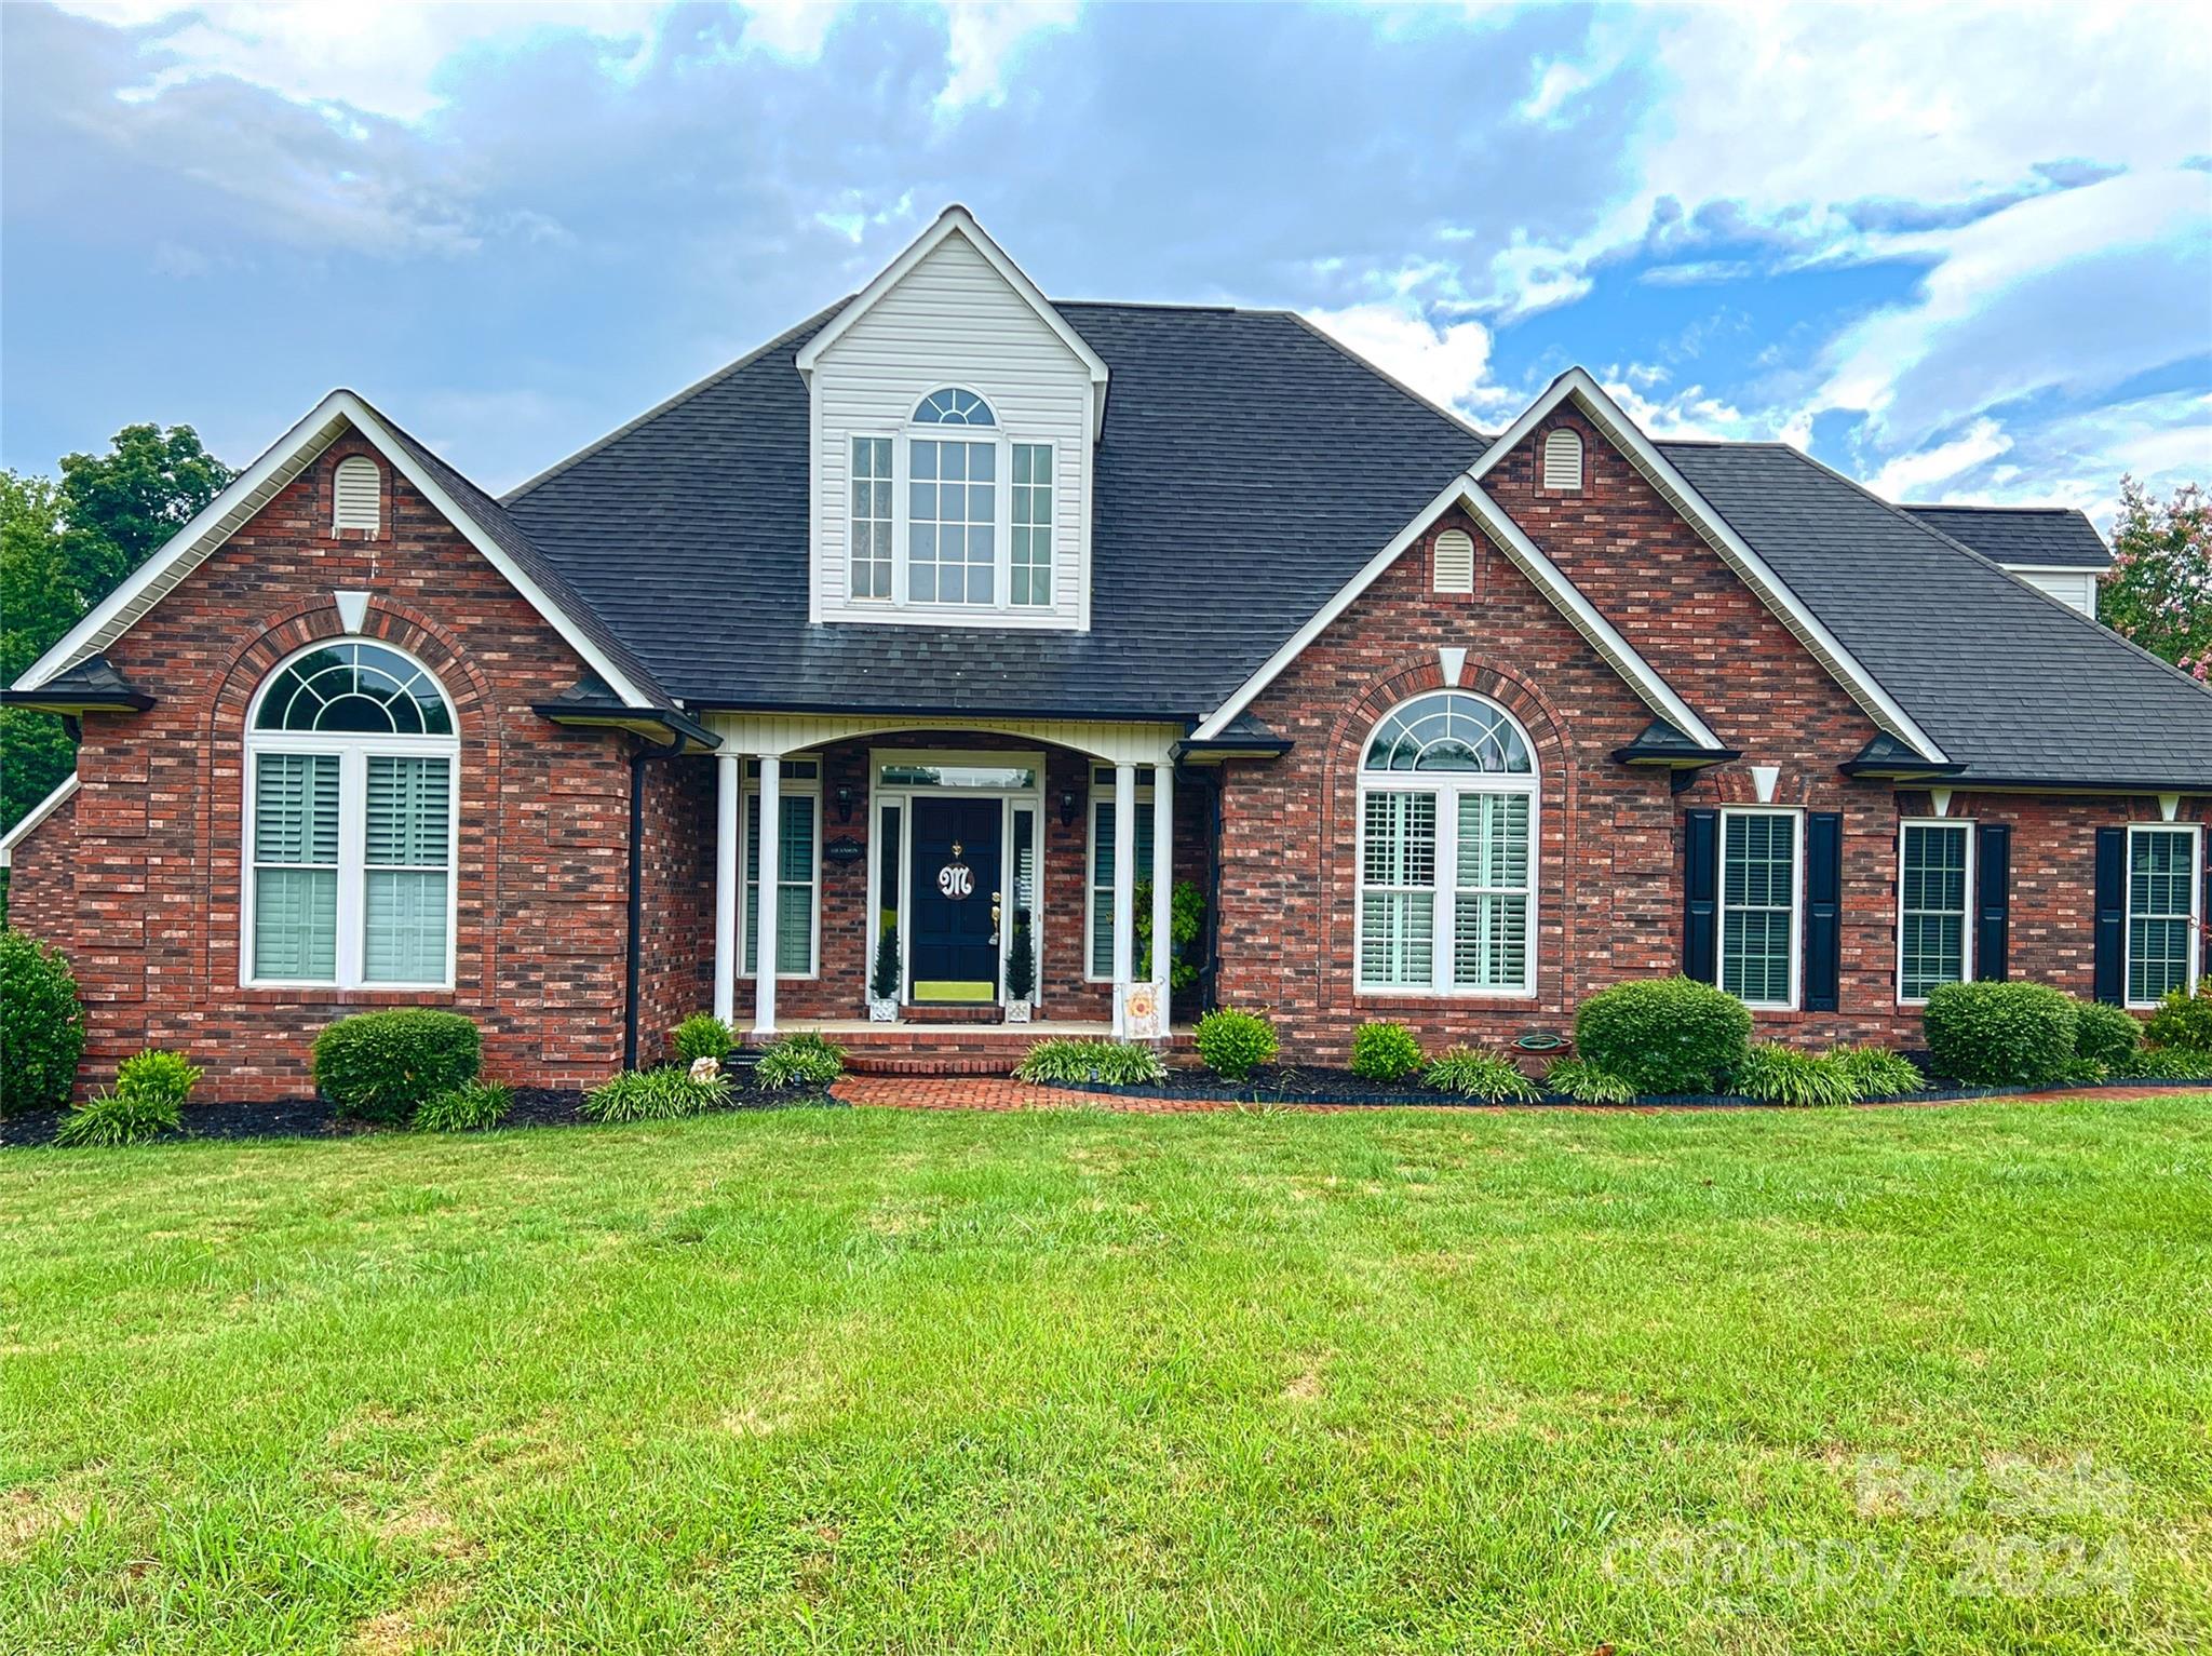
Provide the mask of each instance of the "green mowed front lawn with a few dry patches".
POLYGON ((2208 1422, 2208 1099, 0 1159, 9 1652, 2181 1652, 2208 1422))

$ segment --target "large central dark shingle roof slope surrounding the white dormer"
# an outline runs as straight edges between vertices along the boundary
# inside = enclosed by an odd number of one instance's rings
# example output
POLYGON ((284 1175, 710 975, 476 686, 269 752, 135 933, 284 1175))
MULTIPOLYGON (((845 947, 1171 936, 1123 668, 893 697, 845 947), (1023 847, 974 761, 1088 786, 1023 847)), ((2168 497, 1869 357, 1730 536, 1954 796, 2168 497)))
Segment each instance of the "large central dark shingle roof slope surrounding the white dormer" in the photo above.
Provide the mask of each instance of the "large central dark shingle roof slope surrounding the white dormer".
POLYGON ((1066 303, 1113 371, 1091 630, 807 623, 807 389, 770 347, 507 497, 692 708, 1194 719, 1482 438, 1283 312, 1066 303))

